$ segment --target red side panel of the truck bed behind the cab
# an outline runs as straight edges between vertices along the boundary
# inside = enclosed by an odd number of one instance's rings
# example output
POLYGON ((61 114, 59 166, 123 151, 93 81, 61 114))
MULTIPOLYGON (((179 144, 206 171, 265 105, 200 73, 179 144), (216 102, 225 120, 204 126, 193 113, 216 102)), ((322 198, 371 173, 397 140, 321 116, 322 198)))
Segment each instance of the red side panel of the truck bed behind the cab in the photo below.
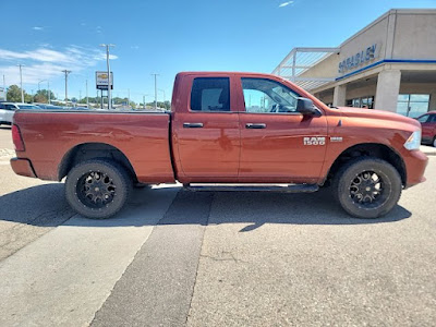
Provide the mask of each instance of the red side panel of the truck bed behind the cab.
POLYGON ((58 181, 69 156, 102 145, 129 158, 138 182, 172 182, 169 120, 156 111, 19 110, 26 148, 17 157, 31 160, 37 178, 58 181))

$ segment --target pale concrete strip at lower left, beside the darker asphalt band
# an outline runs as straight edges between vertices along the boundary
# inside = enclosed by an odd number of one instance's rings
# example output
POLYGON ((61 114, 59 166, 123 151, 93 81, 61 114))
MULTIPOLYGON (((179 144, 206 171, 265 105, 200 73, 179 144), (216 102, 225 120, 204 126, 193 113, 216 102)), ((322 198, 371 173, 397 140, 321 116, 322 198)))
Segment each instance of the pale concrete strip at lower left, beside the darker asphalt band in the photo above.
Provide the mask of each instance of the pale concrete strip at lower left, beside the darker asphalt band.
POLYGON ((146 191, 114 219, 74 216, 1 262, 0 325, 87 326, 178 189, 146 191))

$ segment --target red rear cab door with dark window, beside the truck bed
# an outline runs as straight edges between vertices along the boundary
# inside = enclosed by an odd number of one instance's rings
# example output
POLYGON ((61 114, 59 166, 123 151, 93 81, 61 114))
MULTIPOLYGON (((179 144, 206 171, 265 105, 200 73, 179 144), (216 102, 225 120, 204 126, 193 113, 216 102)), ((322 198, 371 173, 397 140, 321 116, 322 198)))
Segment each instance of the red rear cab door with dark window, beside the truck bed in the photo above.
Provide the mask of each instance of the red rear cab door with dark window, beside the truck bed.
POLYGON ((231 78, 187 75, 179 83, 180 87, 189 87, 189 92, 184 99, 175 101, 179 105, 173 114, 178 179, 183 183, 234 182, 239 169, 240 131, 231 78))

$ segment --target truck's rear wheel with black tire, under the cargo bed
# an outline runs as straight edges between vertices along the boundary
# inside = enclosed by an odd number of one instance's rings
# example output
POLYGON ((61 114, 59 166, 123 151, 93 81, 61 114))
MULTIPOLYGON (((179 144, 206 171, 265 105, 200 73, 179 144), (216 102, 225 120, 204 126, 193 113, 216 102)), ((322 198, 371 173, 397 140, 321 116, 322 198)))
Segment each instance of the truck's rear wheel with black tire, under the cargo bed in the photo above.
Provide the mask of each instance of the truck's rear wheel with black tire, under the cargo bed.
POLYGON ((87 160, 74 166, 65 181, 65 196, 80 215, 112 217, 122 209, 132 187, 125 169, 109 160, 87 160))

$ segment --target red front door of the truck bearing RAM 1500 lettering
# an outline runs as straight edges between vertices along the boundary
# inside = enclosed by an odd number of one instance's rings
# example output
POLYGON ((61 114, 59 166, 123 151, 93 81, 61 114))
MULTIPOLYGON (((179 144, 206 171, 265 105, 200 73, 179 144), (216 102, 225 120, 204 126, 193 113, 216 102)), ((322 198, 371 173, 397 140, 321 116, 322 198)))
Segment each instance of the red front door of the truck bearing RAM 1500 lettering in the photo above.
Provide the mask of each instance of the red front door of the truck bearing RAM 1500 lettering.
POLYGON ((327 144, 325 116, 296 112, 296 92, 268 78, 242 77, 240 182, 315 183, 327 144))

